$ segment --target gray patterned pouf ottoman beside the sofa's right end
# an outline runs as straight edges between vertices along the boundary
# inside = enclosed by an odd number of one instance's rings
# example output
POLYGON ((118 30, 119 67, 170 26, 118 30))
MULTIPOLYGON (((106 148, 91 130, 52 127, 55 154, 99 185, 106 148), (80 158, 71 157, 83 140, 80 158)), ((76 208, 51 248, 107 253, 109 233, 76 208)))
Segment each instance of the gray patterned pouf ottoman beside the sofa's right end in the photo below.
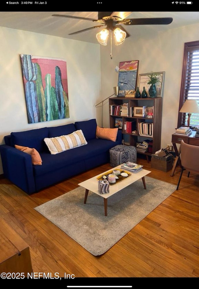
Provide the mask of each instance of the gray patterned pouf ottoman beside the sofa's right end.
POLYGON ((117 165, 121 165, 126 163, 127 161, 131 161, 136 163, 137 161, 137 151, 136 147, 133 146, 125 146, 125 145, 117 145, 112 147, 109 150, 110 153, 110 165, 115 167, 117 165))

